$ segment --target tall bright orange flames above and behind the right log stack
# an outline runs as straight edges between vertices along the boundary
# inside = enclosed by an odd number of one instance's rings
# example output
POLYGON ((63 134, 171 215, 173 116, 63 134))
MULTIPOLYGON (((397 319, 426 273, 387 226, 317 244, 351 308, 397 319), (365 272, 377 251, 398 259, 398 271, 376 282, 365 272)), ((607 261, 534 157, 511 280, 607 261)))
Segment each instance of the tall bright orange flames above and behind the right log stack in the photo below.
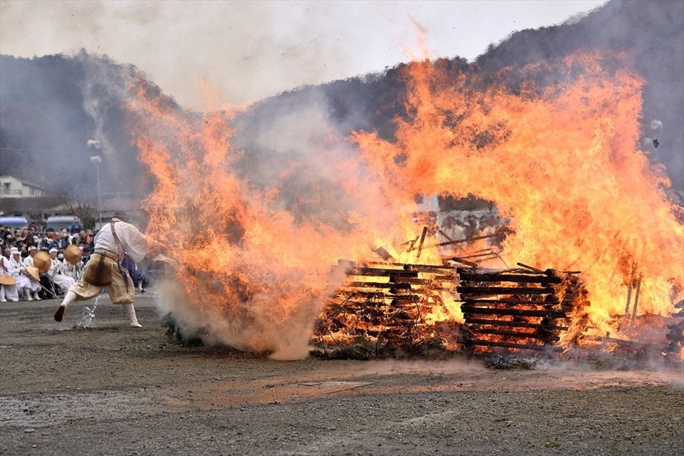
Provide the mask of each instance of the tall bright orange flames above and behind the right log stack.
POLYGON ((408 72, 412 115, 396 141, 355 135, 386 187, 495 202, 515 232, 504 259, 580 270, 599 333, 639 277, 639 313, 668 316, 684 284, 684 232, 663 170, 637 148, 644 82, 620 56, 509 69, 484 89, 427 61, 408 72), (544 78, 557 82, 534 83, 544 78), (522 83, 507 87, 514 79, 522 83))

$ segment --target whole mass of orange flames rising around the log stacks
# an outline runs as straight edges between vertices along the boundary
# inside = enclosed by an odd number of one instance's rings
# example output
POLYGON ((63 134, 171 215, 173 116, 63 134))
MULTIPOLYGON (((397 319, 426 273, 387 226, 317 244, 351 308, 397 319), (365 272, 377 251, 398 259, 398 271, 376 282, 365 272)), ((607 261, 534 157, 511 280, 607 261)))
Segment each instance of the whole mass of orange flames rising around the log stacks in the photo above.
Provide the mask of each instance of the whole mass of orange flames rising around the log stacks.
MULTIPOLYGON (((454 78, 422 61, 403 76, 394 139, 331 130, 317 145, 313 183, 294 203, 281 197, 283 182, 305 162, 279 161, 264 185, 250 174, 249 151, 232 145, 231 113, 179 114, 133 89, 131 135, 155 182, 147 233, 170 247, 168 299, 182 327, 246 350, 306 356, 338 285, 331 264, 378 261, 379 248, 415 262, 399 247, 420 233, 415 195, 493 202, 509 234, 487 266, 581 271, 588 334, 617 331, 637 281, 639 315, 673 312, 683 297, 684 229, 664 170, 639 148, 644 81, 621 56, 580 53, 496 78, 454 78)), ((437 249, 420 257, 442 261, 437 249)))

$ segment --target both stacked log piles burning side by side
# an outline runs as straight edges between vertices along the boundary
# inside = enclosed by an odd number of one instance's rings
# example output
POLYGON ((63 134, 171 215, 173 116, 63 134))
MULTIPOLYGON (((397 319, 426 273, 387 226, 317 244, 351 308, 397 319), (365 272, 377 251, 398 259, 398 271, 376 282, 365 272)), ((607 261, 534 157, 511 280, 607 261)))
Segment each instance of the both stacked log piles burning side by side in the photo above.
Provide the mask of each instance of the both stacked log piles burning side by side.
POLYGON ((570 329, 569 312, 589 301, 571 273, 531 268, 339 261, 331 271, 343 272, 344 281, 316 336, 337 346, 371 338, 410 347, 439 335, 447 346, 467 351, 558 349, 570 329), (455 318, 445 299, 462 302, 465 323, 442 321, 455 318))

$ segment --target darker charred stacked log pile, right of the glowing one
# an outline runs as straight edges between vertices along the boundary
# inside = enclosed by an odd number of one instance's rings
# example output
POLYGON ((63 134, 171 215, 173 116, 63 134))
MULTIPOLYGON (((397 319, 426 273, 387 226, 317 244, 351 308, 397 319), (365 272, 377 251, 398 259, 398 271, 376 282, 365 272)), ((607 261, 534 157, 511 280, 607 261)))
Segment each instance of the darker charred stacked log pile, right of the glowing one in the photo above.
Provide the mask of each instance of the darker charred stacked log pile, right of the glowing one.
POLYGON ((457 268, 466 348, 561 350, 571 314, 589 305, 586 290, 576 273, 519 265, 499 271, 457 268))

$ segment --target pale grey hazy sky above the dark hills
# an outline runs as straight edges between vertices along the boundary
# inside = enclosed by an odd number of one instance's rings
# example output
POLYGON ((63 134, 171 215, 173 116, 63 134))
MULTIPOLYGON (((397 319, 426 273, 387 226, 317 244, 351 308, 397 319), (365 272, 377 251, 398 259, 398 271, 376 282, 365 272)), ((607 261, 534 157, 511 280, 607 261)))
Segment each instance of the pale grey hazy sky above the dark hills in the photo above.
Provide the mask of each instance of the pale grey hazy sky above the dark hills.
POLYGON ((187 108, 199 81, 242 105, 306 84, 383 71, 419 56, 472 60, 513 31, 560 24, 605 0, 0 1, 0 53, 107 54, 187 108))

